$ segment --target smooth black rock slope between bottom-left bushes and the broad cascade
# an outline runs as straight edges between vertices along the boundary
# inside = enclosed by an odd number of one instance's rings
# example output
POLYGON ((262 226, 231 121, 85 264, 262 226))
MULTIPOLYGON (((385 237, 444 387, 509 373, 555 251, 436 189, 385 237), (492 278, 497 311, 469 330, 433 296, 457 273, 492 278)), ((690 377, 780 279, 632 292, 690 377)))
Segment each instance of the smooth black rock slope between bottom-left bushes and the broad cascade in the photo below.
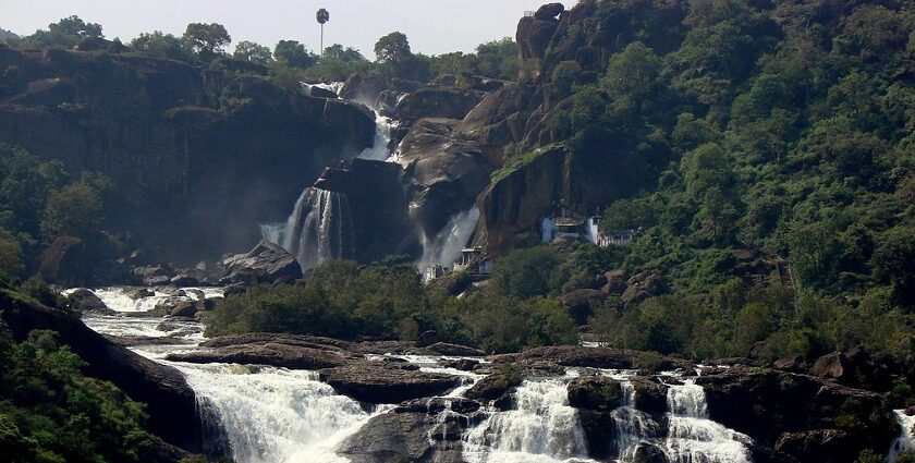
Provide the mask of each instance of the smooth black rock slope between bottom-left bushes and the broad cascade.
POLYGON ((113 382, 131 399, 148 405, 154 432, 182 449, 200 450, 202 428, 194 391, 176 369, 108 341, 59 309, 13 301, 2 294, 0 306, 0 316, 15 339, 25 339, 36 329, 57 331, 60 341, 87 363, 87 374, 113 382))

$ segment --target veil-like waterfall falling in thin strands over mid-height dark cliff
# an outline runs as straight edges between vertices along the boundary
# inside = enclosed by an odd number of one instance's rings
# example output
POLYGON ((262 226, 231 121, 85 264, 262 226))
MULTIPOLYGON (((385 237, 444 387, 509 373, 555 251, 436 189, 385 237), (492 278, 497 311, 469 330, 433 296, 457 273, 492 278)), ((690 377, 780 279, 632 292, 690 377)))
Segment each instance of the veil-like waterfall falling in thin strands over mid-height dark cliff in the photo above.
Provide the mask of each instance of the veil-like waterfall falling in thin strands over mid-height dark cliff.
POLYGON ((282 246, 303 269, 354 251, 353 216, 345 194, 308 187, 295 203, 282 234, 282 246))

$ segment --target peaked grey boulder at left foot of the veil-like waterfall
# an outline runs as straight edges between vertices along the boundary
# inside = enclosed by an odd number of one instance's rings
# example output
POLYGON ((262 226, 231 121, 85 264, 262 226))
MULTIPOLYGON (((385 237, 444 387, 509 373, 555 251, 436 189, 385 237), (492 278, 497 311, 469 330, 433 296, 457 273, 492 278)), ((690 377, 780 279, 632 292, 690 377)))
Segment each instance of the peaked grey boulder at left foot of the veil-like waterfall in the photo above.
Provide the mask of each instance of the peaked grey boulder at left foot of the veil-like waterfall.
POLYGON ((222 260, 224 268, 221 284, 237 282, 293 282, 302 278, 302 267, 282 246, 261 241, 247 254, 222 260))

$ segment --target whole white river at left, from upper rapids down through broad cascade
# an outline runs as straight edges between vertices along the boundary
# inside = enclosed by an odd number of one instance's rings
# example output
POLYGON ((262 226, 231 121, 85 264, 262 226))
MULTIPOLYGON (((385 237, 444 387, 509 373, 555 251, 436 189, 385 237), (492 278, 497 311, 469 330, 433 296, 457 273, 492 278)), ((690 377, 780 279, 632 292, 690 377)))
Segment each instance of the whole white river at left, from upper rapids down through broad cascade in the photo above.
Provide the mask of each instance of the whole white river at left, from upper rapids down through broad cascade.
MULTIPOLYGON (((364 425, 373 413, 358 402, 334 393, 317 374, 284 368, 167 362, 169 353, 200 349, 203 326, 191 320, 143 316, 169 298, 192 301, 222 295, 217 288, 155 291, 134 301, 136 288, 109 288, 93 292, 115 314, 85 314, 94 330, 119 337, 173 337, 174 343, 131 348, 147 358, 178 368, 197 394, 202 417, 208 427, 224 435, 232 458, 239 463, 346 462, 334 454, 335 446, 364 425)), ((173 301, 172 301, 173 302, 173 301)), ((378 409, 379 412, 386 409, 378 409)), ((216 446, 219 447, 219 446, 216 446)))

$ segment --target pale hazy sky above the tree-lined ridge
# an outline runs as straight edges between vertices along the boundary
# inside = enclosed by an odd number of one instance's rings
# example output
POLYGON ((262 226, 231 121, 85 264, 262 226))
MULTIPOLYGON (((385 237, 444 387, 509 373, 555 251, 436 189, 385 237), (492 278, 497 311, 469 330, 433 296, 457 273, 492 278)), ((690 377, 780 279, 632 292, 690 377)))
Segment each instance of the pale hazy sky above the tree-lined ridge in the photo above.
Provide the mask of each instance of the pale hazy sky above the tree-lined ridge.
MULTIPOLYGON (((514 37, 525 11, 547 0, 0 0, 0 28, 19 35, 77 15, 99 23, 105 36, 127 42, 139 33, 180 36, 188 23, 221 23, 240 40, 271 49, 280 39, 298 40, 317 51, 315 12, 326 8, 325 46, 339 42, 374 59, 379 37, 400 31, 414 52, 473 51, 484 41, 514 37)), ((563 0, 566 8, 577 0, 563 0)))

